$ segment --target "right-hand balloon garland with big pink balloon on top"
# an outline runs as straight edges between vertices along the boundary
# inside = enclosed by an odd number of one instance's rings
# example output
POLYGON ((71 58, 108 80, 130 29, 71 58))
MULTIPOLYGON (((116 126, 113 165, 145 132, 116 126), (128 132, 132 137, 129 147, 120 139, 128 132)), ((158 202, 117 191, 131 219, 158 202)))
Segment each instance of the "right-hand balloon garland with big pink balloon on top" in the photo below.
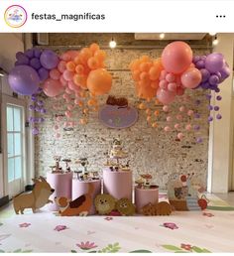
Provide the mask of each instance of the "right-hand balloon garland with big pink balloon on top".
MULTIPOLYGON (((200 101, 195 102, 194 109, 186 109, 183 105, 176 110, 180 113, 170 113, 170 104, 177 98, 183 97, 186 89, 211 89, 218 93, 219 84, 230 75, 230 68, 225 62, 223 55, 219 53, 209 54, 207 56, 192 56, 191 48, 184 42, 176 41, 169 44, 163 51, 162 57, 156 61, 147 56, 133 61, 130 64, 132 76, 135 81, 136 94, 139 98, 151 101, 154 97, 163 104, 163 112, 166 114, 167 125, 164 127, 165 132, 176 131, 176 139, 182 140, 183 132, 194 130, 196 133, 200 130, 200 125, 194 122, 200 118, 198 111, 195 109, 200 101), (185 127, 181 123, 185 121, 185 116, 190 120, 185 127), (174 125, 172 124, 174 123, 174 125)), ((220 95, 214 95, 216 100, 221 100, 220 95)), ((211 99, 211 94, 206 94, 206 99, 211 99)), ((147 122, 152 122, 152 110, 143 102, 139 108, 146 111, 147 122)), ((218 105, 208 105, 208 110, 216 112, 216 119, 222 118, 218 113, 218 105)), ((159 110, 156 112, 159 114, 159 110)), ((208 122, 213 120, 212 115, 207 119, 208 122)), ((157 127, 157 122, 152 127, 157 127)), ((202 138, 196 137, 196 142, 201 143, 202 138)))

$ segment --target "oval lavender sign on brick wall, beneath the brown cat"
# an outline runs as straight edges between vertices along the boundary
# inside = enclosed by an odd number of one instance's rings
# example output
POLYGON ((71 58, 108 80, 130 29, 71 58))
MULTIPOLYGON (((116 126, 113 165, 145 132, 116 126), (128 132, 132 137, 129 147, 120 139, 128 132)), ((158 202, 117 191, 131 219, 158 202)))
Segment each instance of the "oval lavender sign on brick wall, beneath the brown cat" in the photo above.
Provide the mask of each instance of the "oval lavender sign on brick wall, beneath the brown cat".
POLYGON ((123 129, 136 123, 138 111, 132 106, 106 104, 99 111, 99 119, 109 128, 123 129))

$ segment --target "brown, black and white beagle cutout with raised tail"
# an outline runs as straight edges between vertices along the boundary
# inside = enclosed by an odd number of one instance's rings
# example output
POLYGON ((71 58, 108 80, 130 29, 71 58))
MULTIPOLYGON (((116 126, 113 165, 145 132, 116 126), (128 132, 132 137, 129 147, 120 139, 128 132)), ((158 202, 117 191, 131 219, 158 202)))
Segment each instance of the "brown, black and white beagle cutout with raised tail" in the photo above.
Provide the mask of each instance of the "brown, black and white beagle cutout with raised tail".
POLYGON ((88 192, 80 195, 74 200, 64 196, 55 197, 58 204, 60 216, 86 216, 92 205, 92 194, 94 192, 93 184, 88 184, 88 192))

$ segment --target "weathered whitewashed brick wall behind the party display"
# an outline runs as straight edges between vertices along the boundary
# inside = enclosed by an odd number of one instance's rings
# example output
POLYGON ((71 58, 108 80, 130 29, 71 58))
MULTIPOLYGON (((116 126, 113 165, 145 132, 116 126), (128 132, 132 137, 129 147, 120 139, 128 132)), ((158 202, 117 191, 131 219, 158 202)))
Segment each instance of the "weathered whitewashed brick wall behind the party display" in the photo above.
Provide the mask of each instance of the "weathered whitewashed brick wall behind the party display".
MULTIPOLYGON (((61 42, 60 45, 64 43, 62 42, 62 34, 54 36, 51 36, 50 42, 52 45, 58 45, 56 42, 61 42)), ((69 37, 70 45, 74 44, 72 37, 69 37)), ((106 35, 103 37, 106 37, 106 35)), ((100 41, 101 38, 102 36, 100 36, 100 41)), ((89 41, 86 45, 92 42, 90 38, 89 41)), ((98 40, 93 41, 98 42, 98 40)), ((84 41, 82 44, 84 44, 84 41)), ((58 51, 60 51, 59 48, 58 51)), ((203 48, 196 48, 193 51, 198 55, 209 52, 203 48)), ((137 106, 139 100, 135 96, 134 82, 128 70, 128 65, 132 60, 142 55, 158 58, 162 53, 162 49, 147 50, 139 47, 136 49, 107 50, 106 52, 106 64, 114 76, 110 93, 115 96, 126 96, 131 105, 137 106)), ((44 99, 48 113, 45 116, 46 121, 40 126, 40 135, 35 140, 36 174, 45 175, 50 170, 49 166, 54 164, 54 155, 60 155, 62 158, 70 158, 71 160, 87 157, 89 170, 101 173, 106 160, 105 153, 110 149, 110 143, 113 138, 119 137, 124 143, 124 149, 129 153, 130 165, 135 178, 141 173, 151 173, 161 189, 165 189, 168 180, 175 174, 194 172, 205 185, 207 176, 208 103, 205 100, 204 92, 200 90, 190 91, 187 94, 191 96, 191 100, 185 104, 183 103, 183 105, 187 106, 188 109, 194 109, 193 102, 195 99, 199 98, 201 100, 201 104, 198 108, 195 108, 201 115, 199 119, 201 126, 199 136, 203 138, 203 142, 200 144, 195 142, 194 131, 185 133, 186 136, 181 142, 176 141, 176 132, 164 132, 163 126, 167 123, 165 114, 160 117, 160 127, 152 128, 146 122, 144 111, 139 111, 139 120, 134 126, 123 130, 104 127, 99 122, 97 113, 91 113, 89 123, 86 126, 77 125, 73 131, 63 131, 64 118, 60 122, 61 138, 56 139, 53 129, 54 116, 55 114, 63 113, 65 107, 62 100, 44 99), (57 111, 53 110, 55 102, 59 104, 59 110, 57 111)), ((106 96, 100 99, 100 103, 105 102, 105 100, 106 96)), ((179 102, 173 104, 172 111, 174 113, 176 113, 180 104, 179 102)), ((152 107, 154 108, 154 104, 152 107)), ((78 120, 78 116, 81 116, 80 109, 76 108, 74 112, 75 119, 78 120)), ((183 127, 187 120, 187 117, 183 119, 183 127)), ((75 165, 71 165, 71 167, 73 169, 77 168, 75 165)))

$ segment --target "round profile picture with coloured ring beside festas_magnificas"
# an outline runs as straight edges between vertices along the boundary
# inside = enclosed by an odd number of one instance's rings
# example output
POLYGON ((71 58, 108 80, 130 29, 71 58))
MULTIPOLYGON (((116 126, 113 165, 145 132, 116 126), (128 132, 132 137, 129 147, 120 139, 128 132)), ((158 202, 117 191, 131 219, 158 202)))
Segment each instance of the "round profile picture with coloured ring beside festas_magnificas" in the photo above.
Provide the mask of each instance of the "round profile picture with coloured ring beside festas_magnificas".
POLYGON ((20 5, 11 5, 9 6, 4 14, 5 22, 11 28, 20 28, 27 21, 27 12, 20 5))

